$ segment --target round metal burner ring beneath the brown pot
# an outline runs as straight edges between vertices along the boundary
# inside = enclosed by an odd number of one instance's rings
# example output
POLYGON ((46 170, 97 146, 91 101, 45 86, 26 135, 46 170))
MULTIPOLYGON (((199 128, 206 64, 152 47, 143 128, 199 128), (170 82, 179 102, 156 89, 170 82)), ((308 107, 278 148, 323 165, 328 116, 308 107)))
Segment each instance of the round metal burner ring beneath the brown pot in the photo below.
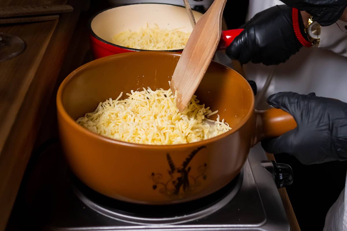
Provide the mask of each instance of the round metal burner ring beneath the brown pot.
MULTIPOLYGON (((149 225, 149 224, 153 224, 153 225, 158 225, 158 224, 162 224, 162 225, 170 225, 170 224, 179 224, 179 223, 185 223, 185 222, 189 222, 189 221, 194 221, 197 219, 202 219, 212 213, 214 213, 215 211, 219 210, 220 208, 222 208, 223 206, 225 206, 226 204, 228 204, 231 199, 237 194, 237 192, 239 191, 239 188, 242 185, 242 179, 243 179, 243 173, 244 170, 242 169, 240 174, 232 181, 230 182, 227 186, 223 187, 221 190, 206 196, 204 198, 201 199, 197 199, 195 201, 192 202, 186 202, 186 203, 181 203, 181 204, 177 204, 177 205, 134 205, 134 204, 129 204, 127 202, 119 202, 121 204, 125 204, 125 207, 132 206, 135 207, 136 211, 141 211, 141 210, 145 210, 148 208, 160 208, 160 209, 164 209, 165 211, 169 210, 169 208, 172 208, 173 206, 176 207, 182 207, 182 206, 187 206, 187 208, 189 208, 189 205, 192 205, 192 203, 195 204, 199 204, 199 202, 204 203, 203 201, 206 200, 207 197, 209 198, 213 198, 213 197, 217 197, 217 198, 221 198, 220 200, 214 200, 210 203, 206 203, 204 204, 204 206, 199 206, 197 207, 197 209, 193 209, 193 211, 188 211, 186 214, 181 214, 181 215, 175 215, 175 213, 172 213, 171 215, 165 215, 163 217, 159 217, 159 216, 146 216, 143 214, 136 214, 133 213, 132 211, 126 211, 126 210, 121 210, 121 209, 115 209, 114 207, 109 207, 105 204, 108 203, 98 203, 98 202, 94 202, 91 198, 89 198, 88 196, 85 195, 86 191, 90 191, 90 193, 92 194, 98 194, 97 198, 99 197, 103 197, 106 198, 104 200, 108 200, 109 202, 116 202, 117 200, 103 196, 99 193, 96 193, 95 191, 91 190, 90 188, 88 188, 87 186, 83 185, 82 187, 85 187, 87 189, 84 190, 79 190, 78 186, 76 186, 76 184, 72 183, 71 187, 72 190, 74 191, 74 193, 77 195, 77 197, 86 205, 88 206, 90 209, 104 215, 107 216, 109 218, 115 219, 115 220, 119 220, 119 221, 123 221, 123 222, 127 222, 127 223, 132 223, 132 224, 140 224, 140 225, 149 225), (224 193, 225 191, 225 193, 224 193), (222 193, 222 194, 221 194, 222 193), (219 195, 221 194, 221 196, 219 195), (217 196, 218 195, 218 196, 217 196)), ((78 184, 83 184, 83 183, 78 183, 77 180, 77 185, 78 184)), ((93 196, 92 196, 93 197, 93 196)), ((210 199, 211 200, 211 199, 210 199)), ((196 205, 195 205, 196 206, 196 205)), ((158 210, 156 210, 158 211, 158 210)), ((161 212, 158 212, 159 214, 161 212)), ((157 214, 158 214, 157 213, 157 214)))

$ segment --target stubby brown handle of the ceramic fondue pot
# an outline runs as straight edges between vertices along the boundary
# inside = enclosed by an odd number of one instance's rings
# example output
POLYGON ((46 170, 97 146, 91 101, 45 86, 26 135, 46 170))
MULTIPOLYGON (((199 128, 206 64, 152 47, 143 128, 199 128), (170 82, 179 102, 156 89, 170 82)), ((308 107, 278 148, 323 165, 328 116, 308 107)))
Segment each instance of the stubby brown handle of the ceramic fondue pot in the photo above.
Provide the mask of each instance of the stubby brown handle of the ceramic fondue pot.
POLYGON ((253 145, 266 138, 279 137, 297 126, 293 116, 282 109, 255 110, 255 117, 256 127, 253 145))

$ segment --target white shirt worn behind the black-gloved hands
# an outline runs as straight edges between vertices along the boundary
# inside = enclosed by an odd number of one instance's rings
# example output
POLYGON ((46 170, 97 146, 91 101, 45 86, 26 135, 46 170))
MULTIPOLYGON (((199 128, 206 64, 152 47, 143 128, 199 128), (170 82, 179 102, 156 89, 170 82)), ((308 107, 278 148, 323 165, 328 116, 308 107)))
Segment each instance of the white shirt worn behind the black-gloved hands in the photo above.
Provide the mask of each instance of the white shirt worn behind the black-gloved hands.
MULTIPOLYGON (((279 0, 250 0, 247 20, 257 12, 280 4, 283 2, 279 0)), ((347 23, 337 23, 347 32, 347 23)), ((266 99, 280 91, 315 92, 318 96, 347 102, 347 33, 341 29, 336 24, 322 27, 319 47, 303 47, 286 63, 277 66, 244 65, 246 78, 254 80, 258 87, 256 108, 269 108, 266 99)), ((344 189, 327 213, 324 231, 347 231, 345 202, 347 191, 344 189)))

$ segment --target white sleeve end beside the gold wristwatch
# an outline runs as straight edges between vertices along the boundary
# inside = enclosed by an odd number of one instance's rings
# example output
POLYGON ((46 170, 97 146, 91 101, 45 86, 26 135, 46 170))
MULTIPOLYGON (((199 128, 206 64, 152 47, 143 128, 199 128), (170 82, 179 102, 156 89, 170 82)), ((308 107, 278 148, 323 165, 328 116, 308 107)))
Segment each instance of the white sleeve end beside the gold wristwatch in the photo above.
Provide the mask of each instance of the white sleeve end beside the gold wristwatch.
POLYGON ((319 48, 347 57, 347 23, 338 20, 330 26, 322 27, 319 48))

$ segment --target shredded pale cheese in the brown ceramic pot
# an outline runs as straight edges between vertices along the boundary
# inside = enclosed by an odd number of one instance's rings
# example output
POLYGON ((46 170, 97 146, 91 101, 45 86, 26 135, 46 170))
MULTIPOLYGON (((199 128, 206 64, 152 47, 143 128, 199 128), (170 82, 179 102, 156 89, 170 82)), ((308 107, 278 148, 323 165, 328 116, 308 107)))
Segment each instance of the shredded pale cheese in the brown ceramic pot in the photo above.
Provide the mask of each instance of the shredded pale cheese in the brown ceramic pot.
POLYGON ((199 104, 196 95, 183 112, 176 107, 171 90, 143 88, 131 91, 128 98, 100 102, 94 112, 86 113, 77 123, 99 135, 136 144, 186 144, 218 136, 229 124, 205 118, 212 112, 199 104))

